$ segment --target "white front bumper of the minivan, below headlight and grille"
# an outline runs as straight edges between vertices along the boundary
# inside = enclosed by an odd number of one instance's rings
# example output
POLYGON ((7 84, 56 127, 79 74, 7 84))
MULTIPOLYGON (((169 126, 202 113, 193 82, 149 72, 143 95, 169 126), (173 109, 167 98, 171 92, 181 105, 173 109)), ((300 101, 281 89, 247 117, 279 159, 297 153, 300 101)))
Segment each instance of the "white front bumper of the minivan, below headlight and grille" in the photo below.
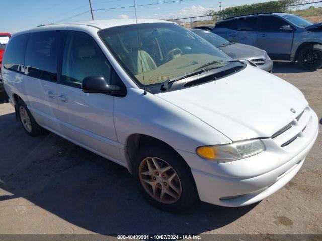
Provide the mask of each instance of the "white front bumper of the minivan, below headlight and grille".
POLYGON ((276 138, 262 139, 266 150, 255 156, 218 163, 194 153, 178 152, 191 167, 201 201, 220 206, 245 206, 266 198, 288 183, 303 165, 317 134, 318 118, 307 107, 292 128, 276 138), (281 147, 283 139, 298 130, 297 138, 281 147))

